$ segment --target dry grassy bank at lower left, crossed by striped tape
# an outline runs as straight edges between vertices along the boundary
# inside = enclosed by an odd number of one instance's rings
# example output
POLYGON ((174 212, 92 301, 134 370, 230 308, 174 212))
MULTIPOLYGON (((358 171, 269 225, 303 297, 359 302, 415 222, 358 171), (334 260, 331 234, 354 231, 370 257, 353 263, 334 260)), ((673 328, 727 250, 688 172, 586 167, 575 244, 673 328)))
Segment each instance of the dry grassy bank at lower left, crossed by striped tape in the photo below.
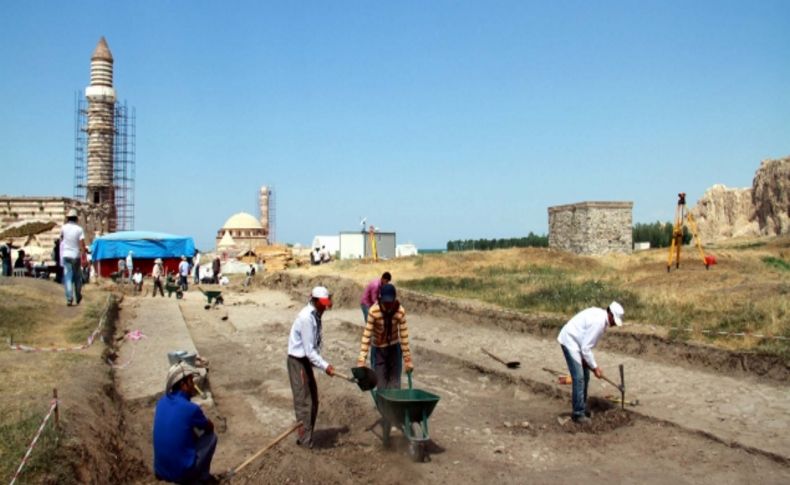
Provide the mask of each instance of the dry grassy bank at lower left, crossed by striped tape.
MULTIPOLYGON (((33 346, 73 346, 85 341, 97 324, 104 295, 89 290, 79 307, 66 307, 63 288, 32 278, 0 279, 0 334, 3 343, 14 341, 33 346)), ((12 351, 0 348, 0 476, 10 477, 19 465, 28 443, 49 409, 53 387, 73 379, 84 365, 95 365, 101 345, 68 353, 12 351)), ((62 396, 63 397, 63 396, 62 396)), ((64 399, 69 399, 65 396, 64 399)), ((50 425, 25 467, 24 477, 61 477, 50 425)), ((58 478, 52 478, 58 477, 58 478)), ((24 481, 24 480, 23 480, 24 481)), ((63 482, 65 483, 65 482, 63 482)))

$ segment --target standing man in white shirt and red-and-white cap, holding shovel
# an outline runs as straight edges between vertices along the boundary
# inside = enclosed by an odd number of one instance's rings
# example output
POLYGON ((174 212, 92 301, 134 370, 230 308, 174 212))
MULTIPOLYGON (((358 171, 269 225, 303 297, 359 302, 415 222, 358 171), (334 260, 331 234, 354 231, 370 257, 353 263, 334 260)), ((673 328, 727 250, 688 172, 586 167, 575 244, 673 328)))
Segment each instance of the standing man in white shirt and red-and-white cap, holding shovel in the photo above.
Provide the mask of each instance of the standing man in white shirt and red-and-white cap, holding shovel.
POLYGON ((296 316, 288 336, 288 377, 294 400, 296 420, 302 422, 296 443, 313 447, 313 431, 318 416, 318 386, 313 367, 334 375, 335 368, 321 357, 321 316, 332 307, 329 290, 316 286, 310 301, 296 316))

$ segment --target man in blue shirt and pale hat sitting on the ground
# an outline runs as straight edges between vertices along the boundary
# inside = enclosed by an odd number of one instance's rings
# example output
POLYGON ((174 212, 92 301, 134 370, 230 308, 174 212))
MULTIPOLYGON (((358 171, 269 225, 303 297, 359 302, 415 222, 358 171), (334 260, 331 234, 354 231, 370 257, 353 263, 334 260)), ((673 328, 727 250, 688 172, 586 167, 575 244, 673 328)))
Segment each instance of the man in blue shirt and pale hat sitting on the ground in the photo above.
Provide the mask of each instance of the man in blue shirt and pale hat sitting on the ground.
POLYGON ((217 447, 214 423, 189 399, 197 393, 197 369, 180 362, 167 373, 165 395, 154 414, 154 472, 175 483, 216 483, 209 474, 217 447), (197 435, 196 430, 202 434, 197 435))

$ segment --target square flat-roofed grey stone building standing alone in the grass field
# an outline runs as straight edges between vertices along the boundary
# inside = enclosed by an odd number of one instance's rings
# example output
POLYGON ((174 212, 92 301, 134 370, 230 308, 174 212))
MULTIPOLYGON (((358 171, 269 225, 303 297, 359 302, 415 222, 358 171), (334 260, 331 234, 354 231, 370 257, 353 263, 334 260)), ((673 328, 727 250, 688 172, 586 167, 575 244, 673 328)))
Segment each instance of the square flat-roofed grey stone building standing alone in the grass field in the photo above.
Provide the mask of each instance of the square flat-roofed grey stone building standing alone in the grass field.
POLYGON ((549 247, 576 254, 631 253, 633 202, 549 207, 549 247))

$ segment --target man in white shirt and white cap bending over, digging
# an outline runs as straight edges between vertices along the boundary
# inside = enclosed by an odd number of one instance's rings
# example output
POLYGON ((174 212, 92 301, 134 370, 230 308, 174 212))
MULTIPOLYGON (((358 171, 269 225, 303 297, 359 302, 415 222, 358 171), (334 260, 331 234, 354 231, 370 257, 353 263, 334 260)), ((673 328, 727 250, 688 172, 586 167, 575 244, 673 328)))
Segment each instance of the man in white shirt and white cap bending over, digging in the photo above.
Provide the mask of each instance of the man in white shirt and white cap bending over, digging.
POLYGON ((623 324, 623 307, 613 301, 609 308, 588 308, 582 310, 560 330, 557 341, 562 347, 568 371, 573 379, 573 421, 579 424, 590 423, 587 412, 587 384, 590 382, 590 369, 595 377, 603 377, 603 371, 595 362, 592 349, 598 344, 607 327, 623 324))

